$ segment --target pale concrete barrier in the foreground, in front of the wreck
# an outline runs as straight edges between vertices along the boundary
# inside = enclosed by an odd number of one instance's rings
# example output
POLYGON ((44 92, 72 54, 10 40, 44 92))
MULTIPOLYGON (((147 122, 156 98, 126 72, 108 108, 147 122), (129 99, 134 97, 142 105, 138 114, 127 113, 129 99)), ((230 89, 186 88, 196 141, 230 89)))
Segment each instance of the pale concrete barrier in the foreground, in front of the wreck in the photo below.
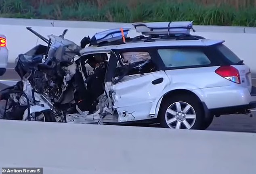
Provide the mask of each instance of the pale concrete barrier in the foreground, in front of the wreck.
POLYGON ((44 174, 255 174, 256 134, 0 120, 0 168, 44 174))

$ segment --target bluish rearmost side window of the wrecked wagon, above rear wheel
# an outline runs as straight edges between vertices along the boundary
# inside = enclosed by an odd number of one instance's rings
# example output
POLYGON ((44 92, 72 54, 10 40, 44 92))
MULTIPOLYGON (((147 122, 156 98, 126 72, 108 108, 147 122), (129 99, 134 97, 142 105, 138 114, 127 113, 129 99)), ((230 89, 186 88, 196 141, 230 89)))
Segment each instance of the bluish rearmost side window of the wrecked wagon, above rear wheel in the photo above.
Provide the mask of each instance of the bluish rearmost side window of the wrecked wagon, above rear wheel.
POLYGON ((165 67, 186 67, 210 65, 211 61, 201 49, 178 48, 157 50, 165 67))

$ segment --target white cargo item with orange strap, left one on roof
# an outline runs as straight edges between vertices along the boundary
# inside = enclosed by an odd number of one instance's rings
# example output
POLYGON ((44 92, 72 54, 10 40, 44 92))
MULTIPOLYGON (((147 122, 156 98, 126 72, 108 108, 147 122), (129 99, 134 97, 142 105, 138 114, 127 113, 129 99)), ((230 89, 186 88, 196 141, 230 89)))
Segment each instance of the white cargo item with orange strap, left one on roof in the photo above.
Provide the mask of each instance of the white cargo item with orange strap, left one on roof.
POLYGON ((90 43, 91 43, 91 45, 97 45, 104 41, 112 42, 112 41, 120 40, 120 39, 122 39, 123 35, 124 35, 124 37, 127 37, 128 33, 130 31, 130 28, 122 28, 122 29, 123 29, 124 33, 122 33, 121 28, 109 29, 109 30, 105 30, 105 31, 96 33, 92 37, 90 43))

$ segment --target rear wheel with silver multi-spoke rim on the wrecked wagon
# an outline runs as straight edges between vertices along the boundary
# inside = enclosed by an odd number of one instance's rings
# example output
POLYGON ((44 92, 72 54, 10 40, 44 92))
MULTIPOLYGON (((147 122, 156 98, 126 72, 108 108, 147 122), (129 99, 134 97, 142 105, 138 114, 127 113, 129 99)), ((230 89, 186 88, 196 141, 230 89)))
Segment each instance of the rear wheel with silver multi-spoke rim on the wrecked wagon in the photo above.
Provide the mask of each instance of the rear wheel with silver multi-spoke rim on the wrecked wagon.
POLYGON ((168 96, 159 111, 162 127, 171 129, 203 129, 204 110, 201 102, 193 95, 168 96), (168 112, 167 112, 168 111, 168 112))

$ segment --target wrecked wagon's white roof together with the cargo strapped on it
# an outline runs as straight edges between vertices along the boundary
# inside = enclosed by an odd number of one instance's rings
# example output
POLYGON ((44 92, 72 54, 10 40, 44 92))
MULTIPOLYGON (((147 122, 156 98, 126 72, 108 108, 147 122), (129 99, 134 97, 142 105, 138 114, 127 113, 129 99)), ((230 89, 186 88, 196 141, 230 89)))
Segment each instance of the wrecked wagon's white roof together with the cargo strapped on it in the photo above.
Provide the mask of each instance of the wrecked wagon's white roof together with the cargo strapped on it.
POLYGON ((136 33, 130 38, 130 28, 110 29, 95 33, 90 39, 90 46, 80 51, 81 55, 106 53, 116 49, 132 49, 164 46, 210 46, 225 42, 224 40, 206 39, 190 34, 193 21, 133 23, 136 33), (122 39, 121 39, 122 38, 122 39), (124 40, 123 40, 124 39, 124 40))

